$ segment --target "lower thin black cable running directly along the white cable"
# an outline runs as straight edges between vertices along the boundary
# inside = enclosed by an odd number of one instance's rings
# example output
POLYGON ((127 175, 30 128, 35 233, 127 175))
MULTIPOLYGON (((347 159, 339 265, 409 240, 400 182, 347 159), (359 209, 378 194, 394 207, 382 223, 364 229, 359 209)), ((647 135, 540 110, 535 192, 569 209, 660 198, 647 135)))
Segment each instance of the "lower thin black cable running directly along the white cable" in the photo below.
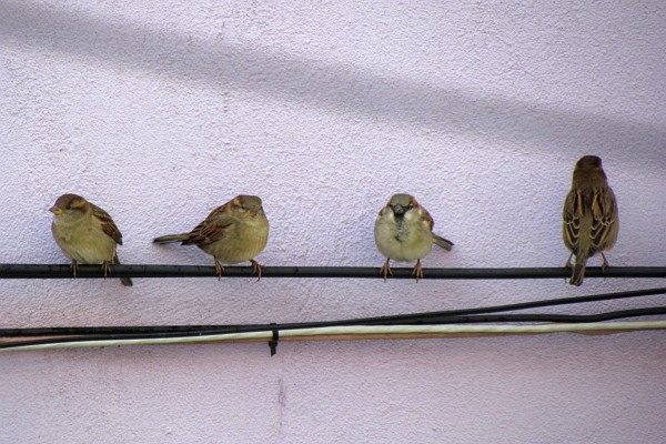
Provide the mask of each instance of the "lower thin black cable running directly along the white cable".
POLYGON ((210 330, 198 330, 190 332, 153 332, 153 333, 121 333, 121 334, 91 334, 83 336, 68 337, 51 337, 42 340, 28 340, 0 343, 0 349, 13 349, 24 345, 44 345, 71 342, 92 342, 92 341, 118 341, 118 340, 151 340, 151 339, 174 339, 174 337, 192 337, 206 336, 230 333, 255 333, 255 332, 280 332, 284 330, 301 330, 315 327, 342 326, 340 322, 345 322, 345 325, 447 325, 447 324, 475 324, 490 322, 559 322, 559 323, 598 323, 603 321, 612 321, 618 319, 662 315, 666 314, 666 306, 654 306, 645 309, 632 309, 614 312, 605 312, 597 314, 484 314, 484 315, 466 315, 466 316, 441 316, 438 319, 430 319, 427 321, 416 320, 412 322, 387 322, 381 324, 346 324, 346 321, 333 322, 303 322, 303 323, 286 323, 286 324, 255 324, 255 325, 229 325, 219 326, 210 330))

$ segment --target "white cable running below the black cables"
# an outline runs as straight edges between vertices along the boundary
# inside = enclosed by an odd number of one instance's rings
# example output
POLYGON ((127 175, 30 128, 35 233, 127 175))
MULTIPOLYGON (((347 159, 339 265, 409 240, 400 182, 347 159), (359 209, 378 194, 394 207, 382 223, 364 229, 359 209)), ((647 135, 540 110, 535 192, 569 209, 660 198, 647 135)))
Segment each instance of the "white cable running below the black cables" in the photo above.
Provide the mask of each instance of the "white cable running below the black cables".
MULTIPOLYGON (((666 321, 644 322, 607 322, 607 323, 583 323, 583 324, 537 324, 537 325, 359 325, 315 327, 300 330, 282 330, 280 337, 300 336, 337 336, 337 335, 392 335, 392 334, 543 334, 543 333, 584 333, 602 332, 608 333, 636 330, 665 330, 666 321)), ((213 341, 242 341, 242 340, 270 340, 272 331, 253 333, 225 333, 209 334, 201 336, 181 337, 155 337, 137 340, 110 340, 110 341, 71 341, 50 344, 19 345, 11 349, 0 349, 0 352, 17 350, 50 350, 85 346, 113 346, 113 345, 151 345, 151 344, 184 344, 213 341)))

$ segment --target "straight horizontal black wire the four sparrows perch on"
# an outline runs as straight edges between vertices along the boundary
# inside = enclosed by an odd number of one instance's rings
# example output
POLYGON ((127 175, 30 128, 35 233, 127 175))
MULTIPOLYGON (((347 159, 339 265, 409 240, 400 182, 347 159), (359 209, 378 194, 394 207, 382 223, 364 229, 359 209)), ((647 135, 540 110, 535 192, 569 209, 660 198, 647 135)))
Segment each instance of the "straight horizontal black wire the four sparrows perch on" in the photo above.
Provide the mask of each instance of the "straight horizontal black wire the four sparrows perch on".
MULTIPOLYGON (((389 279, 413 279, 411 268, 392 268, 389 279)), ((252 278, 251 266, 225 266, 223 278, 252 278)), ((423 279, 565 279, 571 270, 562 268, 513 269, 424 269, 423 279)), ((263 278, 383 279, 373 266, 265 266, 263 278)), ((0 264, 0 279, 72 279, 69 265, 0 264)), ((79 265, 78 278, 104 278, 99 265, 79 265)), ((113 265, 108 278, 216 278, 214 266, 203 265, 113 265)), ((666 278, 666 266, 588 266, 589 278, 666 278)))

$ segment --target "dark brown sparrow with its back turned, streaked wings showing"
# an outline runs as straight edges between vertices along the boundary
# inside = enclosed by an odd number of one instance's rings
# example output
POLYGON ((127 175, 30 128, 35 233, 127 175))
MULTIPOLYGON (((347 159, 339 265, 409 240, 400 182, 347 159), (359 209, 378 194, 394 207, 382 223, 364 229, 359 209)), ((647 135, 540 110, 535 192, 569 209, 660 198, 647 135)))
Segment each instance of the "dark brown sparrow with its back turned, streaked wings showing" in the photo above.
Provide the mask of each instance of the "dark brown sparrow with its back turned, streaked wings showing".
POLYGON ((581 285, 588 258, 599 252, 604 258, 602 269, 608 265, 604 250, 610 250, 615 244, 619 225, 615 194, 608 186, 602 160, 596 155, 585 155, 576 163, 562 219, 564 244, 572 252, 565 264, 567 268, 572 266, 572 256, 576 255, 569 284, 581 285))

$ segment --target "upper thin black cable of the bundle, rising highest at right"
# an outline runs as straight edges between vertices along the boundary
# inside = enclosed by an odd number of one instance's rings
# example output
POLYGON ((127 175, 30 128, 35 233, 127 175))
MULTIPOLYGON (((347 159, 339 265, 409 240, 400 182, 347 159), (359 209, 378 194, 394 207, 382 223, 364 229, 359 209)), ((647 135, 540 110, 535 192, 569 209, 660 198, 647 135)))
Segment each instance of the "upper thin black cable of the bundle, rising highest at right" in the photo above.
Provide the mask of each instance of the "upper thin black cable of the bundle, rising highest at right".
MULTIPOLYGON (((630 297, 644 297, 650 295, 666 294, 666 287, 632 290, 625 292, 593 294, 586 296, 572 296, 561 299, 548 299, 531 302, 518 302, 513 304, 483 306, 475 309, 445 310, 436 312, 423 312, 412 314, 397 314, 387 316, 359 317, 351 320, 321 321, 295 323, 293 325, 316 326, 345 326, 345 325, 391 325, 437 320, 447 316, 465 316, 473 314, 501 313, 509 311, 519 311, 528 309, 538 309, 556 305, 572 305, 579 303, 610 301, 630 297)), ((19 336, 58 336, 58 335, 88 335, 88 334, 144 334, 144 333, 190 333, 201 331, 212 331, 218 329, 241 329, 262 326, 263 324, 242 324, 242 325, 153 325, 153 326, 92 326, 92 327, 38 327, 38 329, 0 329, 0 337, 19 336)), ((282 324, 291 325, 291 324, 282 324)), ((234 331, 238 332, 238 331, 234 331)))

